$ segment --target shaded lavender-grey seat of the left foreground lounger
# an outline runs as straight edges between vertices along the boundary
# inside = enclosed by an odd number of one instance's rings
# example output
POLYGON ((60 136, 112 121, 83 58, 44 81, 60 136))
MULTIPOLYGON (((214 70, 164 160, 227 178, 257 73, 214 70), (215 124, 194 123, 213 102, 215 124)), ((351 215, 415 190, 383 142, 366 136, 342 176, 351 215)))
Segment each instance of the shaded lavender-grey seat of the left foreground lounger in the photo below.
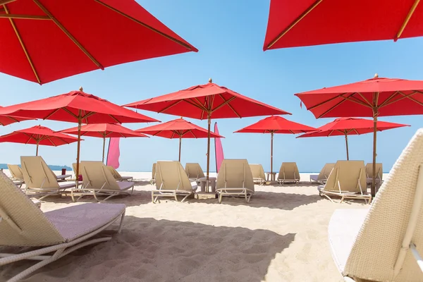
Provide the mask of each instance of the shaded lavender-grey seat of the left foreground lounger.
POLYGON ((45 212, 66 242, 106 225, 125 209, 125 204, 78 204, 45 212))

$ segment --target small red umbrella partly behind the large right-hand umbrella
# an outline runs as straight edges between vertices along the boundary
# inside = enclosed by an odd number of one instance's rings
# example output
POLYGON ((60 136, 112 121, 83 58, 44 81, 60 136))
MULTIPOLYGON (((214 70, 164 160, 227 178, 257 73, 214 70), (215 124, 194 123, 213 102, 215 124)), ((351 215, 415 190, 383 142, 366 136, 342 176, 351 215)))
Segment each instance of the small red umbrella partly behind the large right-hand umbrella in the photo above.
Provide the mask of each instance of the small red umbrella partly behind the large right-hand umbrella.
MULTIPOLYGON (((348 135, 362 135, 372 133, 373 121, 364 118, 336 118, 335 121, 326 123, 315 131, 305 133, 300 137, 329 137, 329 136, 345 136, 345 146, 347 149, 347 160, 350 159, 348 155, 348 135)), ((403 126, 410 126, 400 123, 388 123, 386 121, 378 121, 376 125, 377 131, 384 131, 393 128, 401 128, 403 126)))

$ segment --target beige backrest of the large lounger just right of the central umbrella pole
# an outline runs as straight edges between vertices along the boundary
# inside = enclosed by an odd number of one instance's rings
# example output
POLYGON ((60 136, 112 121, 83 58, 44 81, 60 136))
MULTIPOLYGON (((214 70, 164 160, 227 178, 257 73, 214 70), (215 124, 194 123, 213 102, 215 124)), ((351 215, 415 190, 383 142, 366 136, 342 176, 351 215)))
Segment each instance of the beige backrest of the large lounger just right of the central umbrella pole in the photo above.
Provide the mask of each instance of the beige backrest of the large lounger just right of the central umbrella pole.
POLYGON ((223 159, 216 180, 216 189, 220 188, 248 188, 254 191, 254 181, 246 159, 223 159))

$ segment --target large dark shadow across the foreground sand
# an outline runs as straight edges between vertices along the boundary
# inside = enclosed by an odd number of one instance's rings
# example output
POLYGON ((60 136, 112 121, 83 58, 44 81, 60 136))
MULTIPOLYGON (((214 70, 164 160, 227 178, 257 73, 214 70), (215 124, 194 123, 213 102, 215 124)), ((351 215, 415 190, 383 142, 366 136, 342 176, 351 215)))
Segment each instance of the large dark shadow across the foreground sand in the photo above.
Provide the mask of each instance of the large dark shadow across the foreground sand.
MULTIPOLYGON (((121 234, 105 232, 114 238, 72 252, 25 281, 259 282, 295 238, 295 233, 135 216, 125 216, 121 234)), ((0 276, 10 278, 32 264, 8 264, 0 276)))

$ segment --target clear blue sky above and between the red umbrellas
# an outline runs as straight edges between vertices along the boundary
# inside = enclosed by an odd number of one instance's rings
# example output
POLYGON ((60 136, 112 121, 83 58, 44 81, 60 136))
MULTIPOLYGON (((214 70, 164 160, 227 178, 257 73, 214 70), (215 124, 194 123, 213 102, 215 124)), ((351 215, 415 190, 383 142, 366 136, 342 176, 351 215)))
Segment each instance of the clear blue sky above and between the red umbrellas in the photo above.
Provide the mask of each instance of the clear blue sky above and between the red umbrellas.
MULTIPOLYGON (((174 30, 200 51, 163 58, 126 63, 75 75, 39 86, 0 74, 1 106, 42 99, 82 85, 85 92, 126 104, 168 92, 204 84, 209 78, 240 94, 289 111, 286 118, 318 127, 333 118, 315 119, 305 107, 300 108, 297 92, 341 85, 380 77, 423 79, 423 39, 401 39, 398 42, 357 42, 262 51, 269 13, 269 0, 138 0, 147 11, 174 30)), ((111 35, 113 36, 113 35, 111 35)), ((66 56, 66 54, 63 54, 66 56)), ((178 116, 142 111, 161 121, 178 116)), ((223 139, 226 158, 246 158, 252 164, 270 168, 270 135, 233 131, 264 117, 216 120, 223 139)), ((188 119, 202 127, 207 121, 188 119)), ((380 118, 382 121, 407 123, 399 128, 378 133, 378 161, 389 171, 410 137, 420 127, 422 116, 380 118)), ((0 128, 0 134, 44 125, 54 130, 76 126, 58 121, 25 121, 0 128)), ((151 125, 151 123, 150 123, 151 125)), ((125 124, 142 128, 147 124, 125 124)), ((372 135, 350 137, 350 159, 372 161, 372 135)), ((34 145, 3 143, 1 163, 18 164, 21 155, 35 154, 34 145)), ((102 140, 85 137, 82 160, 101 160, 102 140)), ((183 140, 181 162, 198 162, 206 169, 207 140, 183 140)), ((212 147, 214 152, 214 147, 212 147)), ((48 164, 71 166, 76 158, 76 145, 40 147, 39 154, 48 164)), ((161 137, 121 140, 121 171, 151 171, 154 161, 178 159, 178 140, 161 137)), ((326 162, 345 159, 343 137, 295 139, 295 135, 274 138, 274 170, 282 161, 296 161, 300 171, 319 171, 326 162)), ((211 168, 214 168, 212 154, 211 168)), ((214 169, 212 169, 213 171, 214 169)))

